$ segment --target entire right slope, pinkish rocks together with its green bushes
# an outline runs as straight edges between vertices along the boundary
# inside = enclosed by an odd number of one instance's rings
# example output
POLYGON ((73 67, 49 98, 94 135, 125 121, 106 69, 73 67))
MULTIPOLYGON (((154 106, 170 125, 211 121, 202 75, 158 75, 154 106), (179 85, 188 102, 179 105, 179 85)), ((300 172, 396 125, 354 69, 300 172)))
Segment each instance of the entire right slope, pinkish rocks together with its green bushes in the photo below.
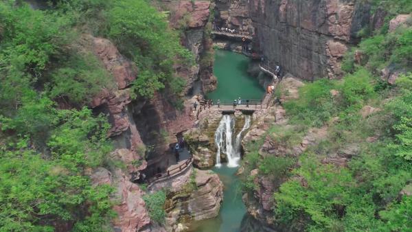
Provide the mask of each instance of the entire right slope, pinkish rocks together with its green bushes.
POLYGON ((385 20, 345 53, 343 78, 284 78, 282 105, 244 137, 243 200, 265 231, 412 228, 412 4, 370 3, 385 20))

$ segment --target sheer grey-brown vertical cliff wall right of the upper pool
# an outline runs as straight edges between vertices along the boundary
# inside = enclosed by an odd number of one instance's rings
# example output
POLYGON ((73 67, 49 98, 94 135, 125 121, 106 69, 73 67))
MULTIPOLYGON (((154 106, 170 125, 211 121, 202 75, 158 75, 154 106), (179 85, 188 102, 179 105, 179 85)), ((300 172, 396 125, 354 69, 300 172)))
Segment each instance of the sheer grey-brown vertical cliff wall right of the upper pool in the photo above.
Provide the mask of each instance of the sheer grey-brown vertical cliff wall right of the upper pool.
POLYGON ((356 33, 372 19, 356 0, 253 0, 255 47, 266 62, 312 80, 340 78, 340 61, 356 33))

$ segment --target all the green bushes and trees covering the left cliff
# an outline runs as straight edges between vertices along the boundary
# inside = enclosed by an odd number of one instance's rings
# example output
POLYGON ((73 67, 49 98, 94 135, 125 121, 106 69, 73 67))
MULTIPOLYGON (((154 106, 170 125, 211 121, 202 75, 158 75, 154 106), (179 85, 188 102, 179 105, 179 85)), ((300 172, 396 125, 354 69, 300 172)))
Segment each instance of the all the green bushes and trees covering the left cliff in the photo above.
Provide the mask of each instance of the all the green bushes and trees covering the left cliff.
POLYGON ((84 105, 114 82, 82 33, 124 43, 147 73, 138 95, 183 89, 173 65, 189 53, 144 1, 53 1, 47 10, 1 1, 0 231, 111 231, 113 188, 90 178, 113 163, 110 126, 84 105))

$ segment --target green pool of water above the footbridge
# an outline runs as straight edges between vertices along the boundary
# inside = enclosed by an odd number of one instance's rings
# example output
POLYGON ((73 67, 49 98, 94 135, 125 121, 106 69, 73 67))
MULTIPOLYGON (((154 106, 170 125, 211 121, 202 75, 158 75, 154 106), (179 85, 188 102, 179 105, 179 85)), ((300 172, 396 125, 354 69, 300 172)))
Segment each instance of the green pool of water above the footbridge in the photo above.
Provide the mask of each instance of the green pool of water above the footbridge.
POLYGON ((258 80, 249 76, 247 67, 250 59, 232 51, 215 50, 214 75, 218 78, 216 90, 207 93, 209 99, 233 101, 242 99, 260 100, 264 88, 258 80))

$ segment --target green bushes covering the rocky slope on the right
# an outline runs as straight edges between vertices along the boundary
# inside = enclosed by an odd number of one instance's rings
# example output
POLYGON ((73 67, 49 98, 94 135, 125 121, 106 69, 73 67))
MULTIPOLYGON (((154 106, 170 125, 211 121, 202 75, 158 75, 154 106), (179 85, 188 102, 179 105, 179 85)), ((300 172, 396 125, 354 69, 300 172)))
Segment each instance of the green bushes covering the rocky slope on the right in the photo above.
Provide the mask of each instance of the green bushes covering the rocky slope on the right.
MULTIPOLYGON (((404 12, 400 5, 409 8, 404 4, 410 3, 379 2, 390 8, 389 14, 404 12)), ((284 170, 279 166, 294 168, 286 173, 289 178, 281 179, 283 183, 273 195, 273 218, 280 228, 411 229, 411 198, 400 199, 400 191, 406 186, 410 189, 412 179, 412 77, 411 73, 400 75, 396 84, 380 79, 380 69, 385 67, 410 71, 410 32, 407 25, 392 33, 368 33, 371 37, 364 38, 345 56, 343 67, 348 73, 342 80, 307 83, 299 89, 299 99, 284 102, 289 125, 274 125, 262 138, 269 135, 276 146, 293 149, 290 145, 301 141, 308 128, 328 128, 322 141, 309 145, 301 154, 297 165, 292 161, 290 166, 282 165, 275 156, 260 155, 262 143, 248 148, 251 152, 246 154, 244 165, 247 171, 259 168, 258 178, 284 170), (363 55, 361 63, 354 62, 355 50, 363 55), (379 112, 361 115, 365 106, 379 112), (356 152, 347 155, 347 149, 353 147, 356 152)), ((284 154, 287 157, 288 150, 284 154)), ((255 178, 244 178, 245 190, 256 190, 255 178)), ((273 181, 277 188, 279 178, 273 181)))

